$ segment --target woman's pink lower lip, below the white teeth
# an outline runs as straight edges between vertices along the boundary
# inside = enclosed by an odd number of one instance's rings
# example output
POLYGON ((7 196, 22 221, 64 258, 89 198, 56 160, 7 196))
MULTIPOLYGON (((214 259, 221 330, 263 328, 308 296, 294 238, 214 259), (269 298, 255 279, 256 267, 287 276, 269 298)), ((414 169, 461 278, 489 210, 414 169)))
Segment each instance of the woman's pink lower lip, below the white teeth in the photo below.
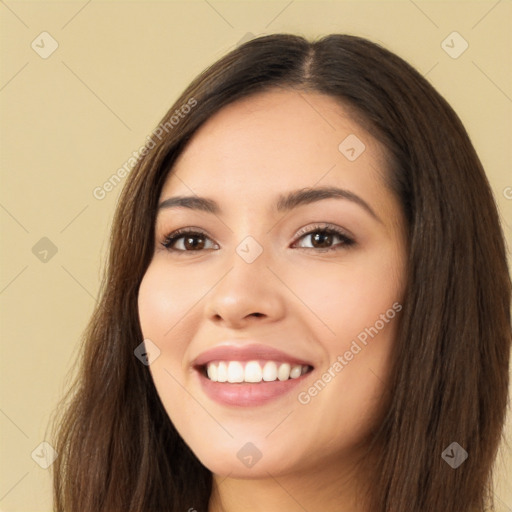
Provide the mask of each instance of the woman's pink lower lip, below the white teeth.
POLYGON ((229 382, 214 382, 201 372, 197 372, 201 387, 209 398, 222 405, 237 407, 254 407, 276 400, 290 393, 298 384, 303 383, 304 378, 308 377, 310 373, 284 381, 231 384, 229 382))

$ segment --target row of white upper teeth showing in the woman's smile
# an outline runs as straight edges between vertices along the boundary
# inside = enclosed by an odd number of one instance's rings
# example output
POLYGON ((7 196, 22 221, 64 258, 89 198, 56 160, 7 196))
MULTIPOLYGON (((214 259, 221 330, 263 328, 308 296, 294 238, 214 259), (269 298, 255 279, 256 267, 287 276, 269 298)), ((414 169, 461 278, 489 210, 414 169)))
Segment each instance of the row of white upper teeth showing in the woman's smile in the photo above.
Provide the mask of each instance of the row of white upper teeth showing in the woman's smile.
POLYGON ((218 361, 208 363, 206 373, 213 382, 273 382, 297 379, 308 372, 308 365, 291 365, 290 363, 277 363, 267 361, 262 367, 258 361, 218 361))

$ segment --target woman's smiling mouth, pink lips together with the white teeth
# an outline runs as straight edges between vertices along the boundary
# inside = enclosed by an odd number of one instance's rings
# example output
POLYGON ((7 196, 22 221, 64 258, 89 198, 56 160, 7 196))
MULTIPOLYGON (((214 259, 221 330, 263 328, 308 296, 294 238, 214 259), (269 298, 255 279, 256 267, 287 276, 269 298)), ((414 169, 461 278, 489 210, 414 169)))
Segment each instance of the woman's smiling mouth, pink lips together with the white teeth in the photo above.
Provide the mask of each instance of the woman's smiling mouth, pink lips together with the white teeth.
POLYGON ((192 368, 206 396, 231 407, 290 399, 314 370, 306 360, 262 346, 217 347, 197 358, 192 368))

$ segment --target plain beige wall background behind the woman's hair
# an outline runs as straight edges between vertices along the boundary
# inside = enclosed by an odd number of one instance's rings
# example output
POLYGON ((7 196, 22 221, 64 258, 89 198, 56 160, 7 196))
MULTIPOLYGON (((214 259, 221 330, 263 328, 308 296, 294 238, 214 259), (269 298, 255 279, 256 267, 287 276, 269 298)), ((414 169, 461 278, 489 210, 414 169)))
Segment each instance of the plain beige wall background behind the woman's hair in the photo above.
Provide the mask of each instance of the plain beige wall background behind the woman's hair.
MULTIPOLYGON (((2 511, 51 510, 50 470, 31 453, 73 372, 122 183, 102 200, 94 188, 190 80, 248 33, 346 32, 408 60, 465 124, 512 242, 510 1, 6 0, 0 23, 2 511), (51 48, 43 31, 58 43, 45 59, 31 47, 51 48), (456 59, 441 46, 453 31, 469 44, 456 59), (33 253, 43 237, 57 248, 46 262, 33 253)), ((48 242, 39 244, 36 253, 48 242)), ((512 511, 510 449, 497 475, 498 510, 512 511)))

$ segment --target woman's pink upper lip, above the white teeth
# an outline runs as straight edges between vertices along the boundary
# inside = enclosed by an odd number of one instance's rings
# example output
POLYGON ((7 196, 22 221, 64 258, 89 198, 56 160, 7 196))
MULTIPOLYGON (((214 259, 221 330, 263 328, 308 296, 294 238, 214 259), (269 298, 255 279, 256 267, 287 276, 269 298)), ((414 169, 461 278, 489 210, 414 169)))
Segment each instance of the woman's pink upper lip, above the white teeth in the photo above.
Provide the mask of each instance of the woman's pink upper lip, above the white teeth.
POLYGON ((266 360, 296 365, 313 366, 309 361, 300 357, 287 354, 269 345, 259 343, 248 343, 244 345, 224 342, 211 349, 208 349, 192 361, 192 366, 204 366, 211 361, 254 361, 266 360))

